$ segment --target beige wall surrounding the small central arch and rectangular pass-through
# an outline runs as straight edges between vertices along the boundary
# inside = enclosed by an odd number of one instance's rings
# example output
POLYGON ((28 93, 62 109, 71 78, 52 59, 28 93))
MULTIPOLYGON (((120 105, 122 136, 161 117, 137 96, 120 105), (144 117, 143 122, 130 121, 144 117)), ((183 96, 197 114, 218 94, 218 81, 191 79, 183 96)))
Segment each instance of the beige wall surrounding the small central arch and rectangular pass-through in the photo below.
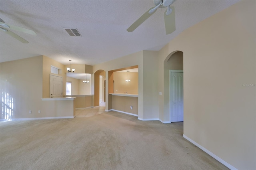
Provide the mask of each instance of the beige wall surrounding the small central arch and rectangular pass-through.
MULTIPOLYGON (((138 65, 138 118, 158 119, 158 51, 140 51, 93 66, 93 72, 106 71, 106 110, 112 109, 112 95, 108 95, 109 71, 138 65)), ((94 82, 94 75, 92 75, 94 82)), ((92 85, 94 91, 94 85, 92 85)), ((111 92, 112 93, 112 92, 111 92)))

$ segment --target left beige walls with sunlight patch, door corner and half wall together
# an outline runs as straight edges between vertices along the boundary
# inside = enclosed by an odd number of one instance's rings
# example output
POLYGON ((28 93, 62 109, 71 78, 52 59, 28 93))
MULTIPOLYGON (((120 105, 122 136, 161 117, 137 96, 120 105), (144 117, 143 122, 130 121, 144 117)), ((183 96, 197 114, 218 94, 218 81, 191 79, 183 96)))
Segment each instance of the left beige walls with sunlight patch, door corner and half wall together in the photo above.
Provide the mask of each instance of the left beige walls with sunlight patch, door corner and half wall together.
MULTIPOLYGON (((70 116, 69 110, 61 111, 61 108, 65 108, 64 105, 70 106, 69 104, 62 105, 62 101, 58 101, 55 105, 54 101, 42 101, 42 98, 50 97, 51 65, 60 69, 60 75, 66 82, 64 65, 43 55, 0 63, 0 94, 2 98, 8 93, 13 99, 11 119, 70 116), (41 113, 38 113, 39 110, 41 113), (32 113, 29 114, 29 111, 32 113)), ((66 84, 63 86, 66 93, 66 84)), ((73 115, 73 107, 70 111, 73 115)), ((1 119, 5 117, 2 116, 1 119)))

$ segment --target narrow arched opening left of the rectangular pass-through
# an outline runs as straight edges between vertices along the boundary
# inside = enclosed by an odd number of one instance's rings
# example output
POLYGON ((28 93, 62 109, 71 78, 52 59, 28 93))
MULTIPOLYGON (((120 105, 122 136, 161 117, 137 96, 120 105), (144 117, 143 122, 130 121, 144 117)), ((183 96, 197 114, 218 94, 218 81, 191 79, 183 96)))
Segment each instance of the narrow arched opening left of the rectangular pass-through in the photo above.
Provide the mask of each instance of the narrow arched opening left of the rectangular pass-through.
MULTIPOLYGON (((98 70, 94 73, 94 107, 95 106, 99 106, 100 105, 100 99, 104 99, 104 91, 102 92, 101 89, 102 87, 102 81, 100 81, 100 76, 102 76, 103 78, 105 78, 106 76, 106 71, 104 70, 98 70), (100 89, 101 87, 101 89, 100 89), (101 93, 100 93, 101 91, 101 93), (102 97, 100 97, 100 94, 102 95, 102 97)), ((104 84, 103 84, 104 85, 104 84)))

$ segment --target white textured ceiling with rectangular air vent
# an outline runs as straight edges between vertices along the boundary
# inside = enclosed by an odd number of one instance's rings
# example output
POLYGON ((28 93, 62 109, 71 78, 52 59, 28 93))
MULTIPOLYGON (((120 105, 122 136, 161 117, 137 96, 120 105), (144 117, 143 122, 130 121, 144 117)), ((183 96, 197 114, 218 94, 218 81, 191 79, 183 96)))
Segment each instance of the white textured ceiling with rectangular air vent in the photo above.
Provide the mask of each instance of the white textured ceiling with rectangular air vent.
POLYGON ((159 50, 185 29, 236 3, 236 0, 177 0, 176 31, 165 34, 165 9, 134 32, 126 29, 154 6, 152 0, 0 0, 4 22, 34 30, 15 32, 20 43, 0 32, 0 62, 46 55, 62 64, 95 65, 142 50, 159 50), (77 28, 71 37, 63 28, 77 28))

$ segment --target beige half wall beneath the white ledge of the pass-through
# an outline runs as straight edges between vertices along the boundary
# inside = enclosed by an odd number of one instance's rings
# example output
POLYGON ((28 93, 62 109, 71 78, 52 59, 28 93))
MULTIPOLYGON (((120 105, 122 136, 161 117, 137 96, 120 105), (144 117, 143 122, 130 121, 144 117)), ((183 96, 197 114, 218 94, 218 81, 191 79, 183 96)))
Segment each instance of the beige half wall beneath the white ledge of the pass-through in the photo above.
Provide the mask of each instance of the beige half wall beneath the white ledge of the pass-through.
POLYGON ((138 115, 138 97, 112 95, 112 109, 138 115))

